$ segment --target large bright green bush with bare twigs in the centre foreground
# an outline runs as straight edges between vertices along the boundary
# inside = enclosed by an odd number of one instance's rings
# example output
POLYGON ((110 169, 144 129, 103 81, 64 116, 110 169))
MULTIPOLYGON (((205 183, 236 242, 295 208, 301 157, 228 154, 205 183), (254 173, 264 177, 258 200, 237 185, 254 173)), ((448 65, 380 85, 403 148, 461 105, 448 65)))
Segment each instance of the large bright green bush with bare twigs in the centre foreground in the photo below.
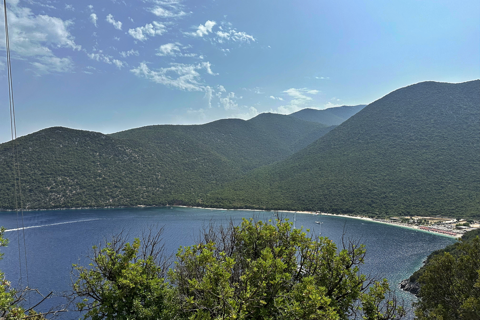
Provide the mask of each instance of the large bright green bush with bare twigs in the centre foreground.
POLYGON ((402 318, 386 280, 359 272, 365 253, 281 218, 244 219, 205 228, 166 272, 159 232, 120 234, 74 265, 70 297, 91 319, 402 318))

